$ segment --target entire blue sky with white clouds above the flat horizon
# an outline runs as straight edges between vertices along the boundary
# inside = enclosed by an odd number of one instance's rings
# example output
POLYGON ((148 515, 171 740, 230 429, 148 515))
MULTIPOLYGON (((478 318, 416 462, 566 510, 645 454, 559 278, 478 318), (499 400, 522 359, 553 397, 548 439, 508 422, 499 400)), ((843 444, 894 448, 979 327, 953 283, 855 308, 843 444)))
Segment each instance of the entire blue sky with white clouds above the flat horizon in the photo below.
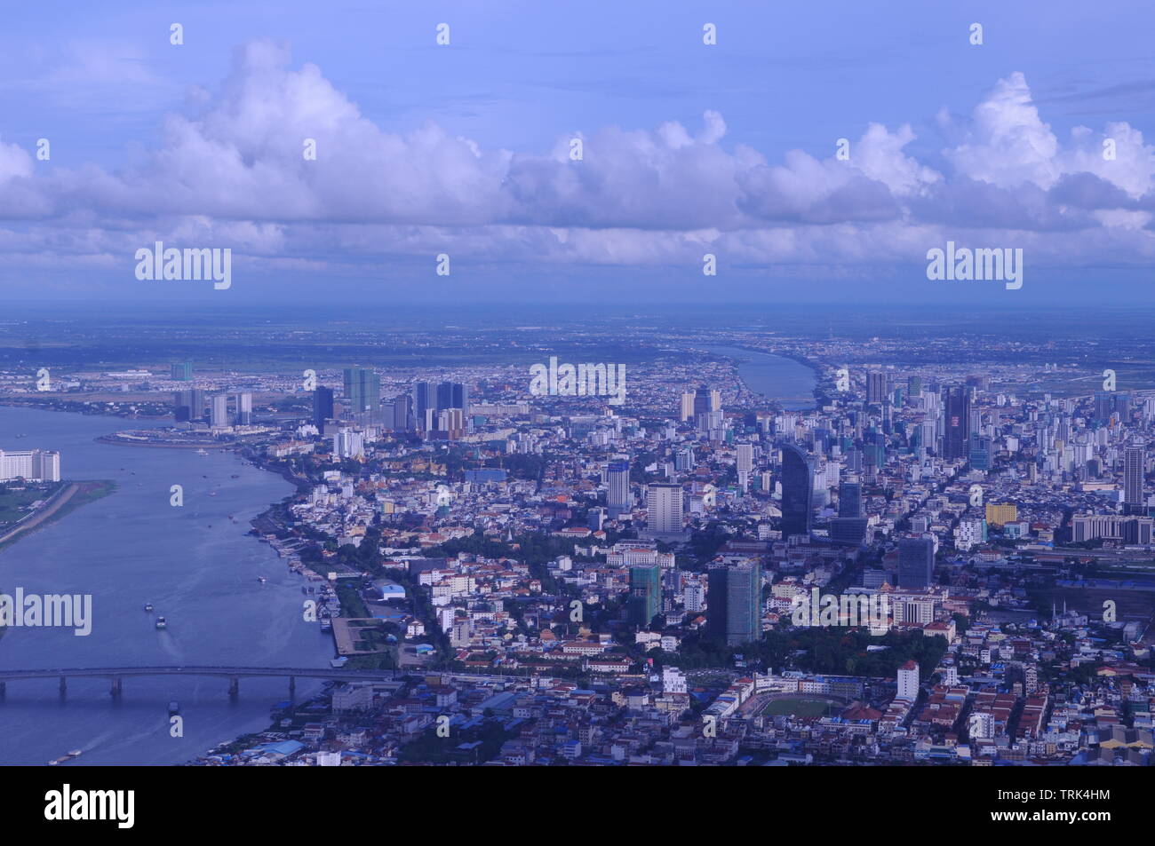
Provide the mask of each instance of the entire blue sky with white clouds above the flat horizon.
POLYGON ((0 15, 8 302, 1149 299, 1149 3, 0 15), (229 248, 230 286, 139 279, 157 241, 229 248), (948 241, 1022 249, 1022 286, 929 279, 948 241))

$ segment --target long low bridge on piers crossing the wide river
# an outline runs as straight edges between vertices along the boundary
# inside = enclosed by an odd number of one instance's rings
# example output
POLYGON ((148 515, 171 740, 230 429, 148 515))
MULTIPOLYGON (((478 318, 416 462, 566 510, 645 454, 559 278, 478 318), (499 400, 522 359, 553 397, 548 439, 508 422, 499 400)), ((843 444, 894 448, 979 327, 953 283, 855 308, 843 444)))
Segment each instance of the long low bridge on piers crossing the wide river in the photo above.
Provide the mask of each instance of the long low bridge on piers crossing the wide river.
POLYGON ((69 679, 107 679, 112 696, 120 696, 124 679, 134 676, 216 676, 229 680, 229 695, 240 692, 241 679, 289 679, 290 696, 297 691, 297 679, 326 679, 328 681, 392 681, 395 669, 323 669, 318 667, 84 667, 65 669, 0 669, 0 696, 9 681, 22 679, 59 679, 60 692, 68 689, 69 679))

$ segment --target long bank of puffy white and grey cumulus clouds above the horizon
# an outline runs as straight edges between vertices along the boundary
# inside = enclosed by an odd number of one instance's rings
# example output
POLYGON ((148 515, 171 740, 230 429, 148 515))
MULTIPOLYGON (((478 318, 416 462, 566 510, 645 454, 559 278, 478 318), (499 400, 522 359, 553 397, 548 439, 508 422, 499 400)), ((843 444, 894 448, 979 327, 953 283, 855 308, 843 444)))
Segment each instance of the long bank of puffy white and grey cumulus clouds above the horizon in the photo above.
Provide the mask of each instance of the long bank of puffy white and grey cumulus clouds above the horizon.
POLYGON ((845 160, 832 149, 777 162, 731 143, 714 111, 691 127, 559 132, 532 154, 483 149, 434 121, 392 132, 270 42, 238 48, 219 92, 194 91, 189 110, 169 115, 158 145, 117 172, 42 174, 0 141, 0 218, 21 223, 25 249, 89 263, 166 240, 311 272, 445 250, 482 261, 665 264, 715 252, 754 265, 873 264, 922 261, 946 238, 1081 263, 1101 250, 1112 261, 1153 252, 1155 148, 1125 122, 1076 127, 1061 143, 1019 73, 968 117, 940 118, 944 172, 908 155, 908 125, 869 125, 845 160), (303 155, 306 138, 315 160, 303 155))

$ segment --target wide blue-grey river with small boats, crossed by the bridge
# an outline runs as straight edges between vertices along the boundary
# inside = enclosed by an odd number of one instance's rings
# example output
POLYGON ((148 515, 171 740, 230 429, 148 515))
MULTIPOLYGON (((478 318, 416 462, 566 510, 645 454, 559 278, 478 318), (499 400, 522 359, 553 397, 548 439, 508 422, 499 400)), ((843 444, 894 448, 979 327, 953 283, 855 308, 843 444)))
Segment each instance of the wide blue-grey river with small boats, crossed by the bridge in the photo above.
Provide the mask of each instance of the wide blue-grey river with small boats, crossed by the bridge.
MULTIPOLYGON (((157 424, 154 424, 157 425, 157 424)), ((304 579, 248 521, 292 487, 229 452, 118 447, 94 439, 148 424, 112 417, 0 406, 0 449, 60 450, 66 479, 111 479, 111 496, 82 506, 0 549, 0 592, 89 593, 92 631, 9 628, 0 668, 230 665, 327 667, 333 641, 303 619, 304 579), (24 433, 25 437, 16 435, 24 433), (232 476, 238 478, 233 479, 232 476), (169 504, 172 485, 185 504, 169 504), (215 493, 215 495, 209 495, 215 493), (236 522, 233 522, 233 519, 236 522), (262 584, 259 576, 267 577, 262 584), (158 630, 152 602, 169 627, 158 630)), ((0 699, 0 764, 172 764, 269 724, 288 681, 125 679, 119 699, 103 679, 12 681, 0 699), (172 738, 169 702, 180 703, 184 736, 172 738)), ((320 690, 298 680, 298 699, 320 690)))

